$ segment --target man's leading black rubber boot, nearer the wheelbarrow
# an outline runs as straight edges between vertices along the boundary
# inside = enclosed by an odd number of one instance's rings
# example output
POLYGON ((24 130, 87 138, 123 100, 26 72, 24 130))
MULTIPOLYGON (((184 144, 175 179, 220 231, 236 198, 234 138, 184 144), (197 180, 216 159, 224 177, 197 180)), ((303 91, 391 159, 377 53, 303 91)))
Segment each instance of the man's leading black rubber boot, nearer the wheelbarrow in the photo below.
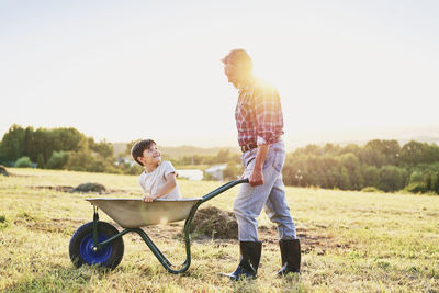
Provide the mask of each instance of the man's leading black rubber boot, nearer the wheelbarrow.
POLYGON ((240 261, 238 268, 236 268, 233 273, 222 273, 222 275, 229 277, 233 281, 238 281, 243 278, 256 279, 262 251, 262 243, 240 241, 239 250, 240 261))

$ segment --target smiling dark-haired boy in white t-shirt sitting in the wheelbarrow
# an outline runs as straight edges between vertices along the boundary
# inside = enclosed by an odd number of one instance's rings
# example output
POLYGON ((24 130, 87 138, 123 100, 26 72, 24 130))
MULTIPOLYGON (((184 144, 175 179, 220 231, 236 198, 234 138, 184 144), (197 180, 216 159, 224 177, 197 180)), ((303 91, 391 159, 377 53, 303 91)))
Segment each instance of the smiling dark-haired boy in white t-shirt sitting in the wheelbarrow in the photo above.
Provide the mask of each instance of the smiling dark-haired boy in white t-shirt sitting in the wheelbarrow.
POLYGON ((161 161, 161 154, 153 139, 143 139, 134 144, 131 155, 145 168, 138 178, 145 192, 144 202, 156 199, 181 199, 177 185, 176 170, 170 161, 161 161))

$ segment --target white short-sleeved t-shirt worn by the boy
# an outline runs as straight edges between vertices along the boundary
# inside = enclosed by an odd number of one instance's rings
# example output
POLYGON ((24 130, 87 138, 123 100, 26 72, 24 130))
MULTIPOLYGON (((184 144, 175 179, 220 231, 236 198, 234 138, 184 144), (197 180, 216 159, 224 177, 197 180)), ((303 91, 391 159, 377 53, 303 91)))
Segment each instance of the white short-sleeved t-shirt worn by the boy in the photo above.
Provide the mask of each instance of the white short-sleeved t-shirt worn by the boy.
MULTIPOLYGON (((161 161, 159 166, 153 172, 142 172, 138 178, 138 183, 140 183, 142 189, 146 194, 156 194, 157 190, 166 183, 166 177, 169 173, 176 172, 173 166, 170 161, 161 161)), ((167 194, 160 196, 160 199, 181 199, 181 193, 178 184, 167 194)))

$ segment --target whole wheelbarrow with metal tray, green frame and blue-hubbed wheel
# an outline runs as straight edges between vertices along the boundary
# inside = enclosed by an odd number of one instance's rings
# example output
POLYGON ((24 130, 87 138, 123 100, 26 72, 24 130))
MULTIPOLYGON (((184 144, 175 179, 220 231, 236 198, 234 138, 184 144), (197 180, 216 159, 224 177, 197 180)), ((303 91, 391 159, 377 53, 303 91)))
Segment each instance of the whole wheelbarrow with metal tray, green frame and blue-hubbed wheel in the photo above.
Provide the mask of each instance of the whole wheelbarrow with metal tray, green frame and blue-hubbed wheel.
POLYGON ((70 259, 77 268, 82 264, 94 264, 114 269, 121 263, 124 253, 122 236, 132 232, 142 237, 168 272, 176 274, 185 272, 191 266, 189 229, 196 210, 202 203, 239 183, 248 183, 248 179, 230 181, 202 198, 194 199, 158 199, 149 203, 143 202, 142 199, 86 199, 93 205, 93 222, 82 225, 75 232, 69 244, 70 259), (124 229, 119 232, 113 225, 99 221, 99 209, 124 229), (175 266, 140 227, 183 219, 185 219, 185 260, 182 264, 175 266))

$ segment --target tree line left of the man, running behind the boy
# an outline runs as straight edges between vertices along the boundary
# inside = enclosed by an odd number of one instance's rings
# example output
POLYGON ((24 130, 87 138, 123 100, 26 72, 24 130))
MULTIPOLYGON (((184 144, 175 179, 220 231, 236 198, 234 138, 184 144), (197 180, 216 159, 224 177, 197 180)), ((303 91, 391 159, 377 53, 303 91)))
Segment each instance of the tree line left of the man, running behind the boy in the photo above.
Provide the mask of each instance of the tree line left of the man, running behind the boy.
MULTIPOLYGON (((0 165, 7 167, 36 167, 42 169, 66 169, 74 171, 138 174, 142 167, 131 158, 133 140, 122 154, 114 154, 113 144, 95 142, 72 127, 23 128, 12 125, 0 142, 0 165)), ((172 158, 162 154, 164 159, 176 166, 216 165, 235 161, 239 155, 219 149, 216 155, 193 155, 172 158)), ((236 178, 239 169, 230 165, 227 179, 236 178)))

